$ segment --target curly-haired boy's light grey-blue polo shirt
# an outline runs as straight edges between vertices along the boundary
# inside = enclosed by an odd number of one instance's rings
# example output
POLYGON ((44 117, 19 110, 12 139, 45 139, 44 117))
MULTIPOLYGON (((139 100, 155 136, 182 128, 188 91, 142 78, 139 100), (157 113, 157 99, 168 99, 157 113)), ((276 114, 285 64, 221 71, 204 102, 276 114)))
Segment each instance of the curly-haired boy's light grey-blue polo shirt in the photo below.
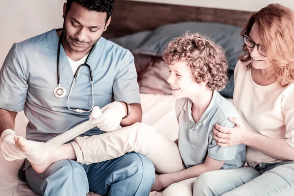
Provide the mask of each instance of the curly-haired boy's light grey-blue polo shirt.
POLYGON ((212 136, 216 123, 234 127, 229 117, 240 116, 228 100, 214 91, 213 98, 199 122, 192 117, 192 100, 180 98, 176 101, 176 117, 179 123, 178 146, 187 168, 204 163, 206 156, 225 161, 221 169, 235 169, 245 165, 245 145, 219 147, 212 136))

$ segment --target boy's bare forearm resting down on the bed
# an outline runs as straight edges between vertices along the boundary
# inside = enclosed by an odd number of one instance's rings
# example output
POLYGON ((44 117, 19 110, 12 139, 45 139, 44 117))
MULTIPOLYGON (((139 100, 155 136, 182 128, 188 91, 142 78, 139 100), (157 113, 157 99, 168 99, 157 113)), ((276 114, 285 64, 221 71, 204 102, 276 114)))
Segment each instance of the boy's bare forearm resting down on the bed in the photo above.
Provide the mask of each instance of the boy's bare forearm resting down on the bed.
POLYGON ((186 170, 163 174, 162 178, 162 186, 163 188, 170 186, 173 183, 180 182, 189 178, 198 177, 200 174, 209 171, 220 170, 225 161, 216 160, 210 158, 208 155, 206 156, 205 162, 193 167, 190 167, 186 170))

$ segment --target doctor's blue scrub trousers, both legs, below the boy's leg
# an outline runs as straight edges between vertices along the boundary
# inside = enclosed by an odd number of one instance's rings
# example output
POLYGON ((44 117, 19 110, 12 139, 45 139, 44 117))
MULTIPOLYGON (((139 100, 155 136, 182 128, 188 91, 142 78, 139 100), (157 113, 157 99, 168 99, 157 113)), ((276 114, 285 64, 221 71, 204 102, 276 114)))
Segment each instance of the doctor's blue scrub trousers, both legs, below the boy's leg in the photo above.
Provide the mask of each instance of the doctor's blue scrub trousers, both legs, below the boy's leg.
POLYGON ((147 157, 131 152, 91 165, 60 160, 42 174, 29 166, 25 176, 31 189, 43 196, 85 196, 89 191, 106 196, 148 196, 155 169, 147 157))

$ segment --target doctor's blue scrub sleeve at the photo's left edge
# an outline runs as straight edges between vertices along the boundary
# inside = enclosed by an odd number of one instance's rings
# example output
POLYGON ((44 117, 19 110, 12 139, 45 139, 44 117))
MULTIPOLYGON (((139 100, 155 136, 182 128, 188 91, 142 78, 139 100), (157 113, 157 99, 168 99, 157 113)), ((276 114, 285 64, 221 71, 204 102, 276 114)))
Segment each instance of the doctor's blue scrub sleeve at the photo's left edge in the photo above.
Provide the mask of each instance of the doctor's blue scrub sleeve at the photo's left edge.
POLYGON ((24 109, 28 88, 22 59, 13 44, 0 70, 0 108, 20 112, 24 109))

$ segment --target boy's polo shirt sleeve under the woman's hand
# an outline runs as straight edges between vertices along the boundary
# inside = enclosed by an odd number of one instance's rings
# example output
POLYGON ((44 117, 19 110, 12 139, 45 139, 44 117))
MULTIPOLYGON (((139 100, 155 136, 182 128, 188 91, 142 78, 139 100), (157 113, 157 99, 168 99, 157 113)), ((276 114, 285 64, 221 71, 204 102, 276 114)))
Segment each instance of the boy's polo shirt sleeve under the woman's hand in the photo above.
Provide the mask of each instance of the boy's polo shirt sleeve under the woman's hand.
MULTIPOLYGON (((220 124, 225 127, 234 127, 235 124, 230 121, 224 121, 220 124)), ((212 159, 220 160, 220 161, 228 161, 236 158, 237 149, 239 145, 235 145, 232 147, 220 147, 217 145, 217 141, 213 138, 212 133, 209 135, 212 137, 210 144, 208 144, 208 156, 212 159)))

